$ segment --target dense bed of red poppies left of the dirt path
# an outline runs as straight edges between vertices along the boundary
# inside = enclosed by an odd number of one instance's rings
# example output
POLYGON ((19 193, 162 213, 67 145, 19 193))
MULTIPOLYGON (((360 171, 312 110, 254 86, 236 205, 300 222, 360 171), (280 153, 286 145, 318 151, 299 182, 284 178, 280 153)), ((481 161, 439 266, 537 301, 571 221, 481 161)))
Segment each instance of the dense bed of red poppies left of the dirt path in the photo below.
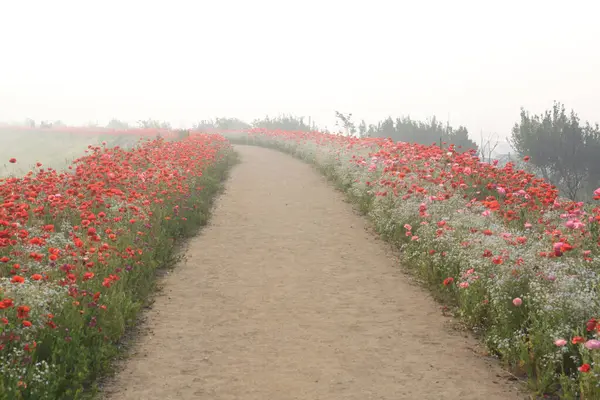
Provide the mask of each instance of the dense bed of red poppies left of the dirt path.
POLYGON ((90 145, 64 171, 0 179, 0 399, 94 392, 234 162, 222 136, 192 134, 90 145))

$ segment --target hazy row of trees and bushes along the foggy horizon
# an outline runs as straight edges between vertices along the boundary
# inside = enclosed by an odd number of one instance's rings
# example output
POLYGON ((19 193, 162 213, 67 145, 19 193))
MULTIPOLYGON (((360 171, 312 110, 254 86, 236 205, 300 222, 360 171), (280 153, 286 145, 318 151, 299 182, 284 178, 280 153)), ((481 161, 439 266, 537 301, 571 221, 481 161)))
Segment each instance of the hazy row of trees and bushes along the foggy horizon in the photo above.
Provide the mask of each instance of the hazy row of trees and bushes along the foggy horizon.
MULTIPOLYGON (((435 116, 426 121, 417 121, 408 116, 388 117, 376 124, 364 120, 357 125, 352 114, 335 112, 338 133, 358 137, 390 138, 394 141, 420 143, 425 145, 454 145, 459 151, 475 151, 485 162, 492 160, 494 146, 488 141, 478 144, 469 137, 464 126, 454 128, 435 116)), ((27 120, 35 127, 33 120, 27 120)), ((61 121, 42 121, 38 126, 61 126, 61 121)), ((172 129, 168 122, 153 119, 137 122, 140 128, 172 129)), ((130 125, 112 119, 106 126, 112 129, 127 129, 130 125)), ((202 120, 193 126, 194 130, 243 130, 249 128, 281 129, 287 131, 321 131, 310 118, 295 115, 266 116, 251 123, 238 118, 222 117, 202 120)), ((181 136, 186 135, 181 131, 181 136)), ((529 157, 528 168, 556 185, 564 196, 573 200, 589 200, 593 191, 600 186, 600 126, 582 122, 563 104, 554 102, 552 108, 542 114, 531 114, 521 109, 520 119, 510 132, 509 142, 519 159, 529 157)), ((517 162, 518 159, 510 161, 517 162)), ((517 162, 518 163, 518 162, 517 162)))

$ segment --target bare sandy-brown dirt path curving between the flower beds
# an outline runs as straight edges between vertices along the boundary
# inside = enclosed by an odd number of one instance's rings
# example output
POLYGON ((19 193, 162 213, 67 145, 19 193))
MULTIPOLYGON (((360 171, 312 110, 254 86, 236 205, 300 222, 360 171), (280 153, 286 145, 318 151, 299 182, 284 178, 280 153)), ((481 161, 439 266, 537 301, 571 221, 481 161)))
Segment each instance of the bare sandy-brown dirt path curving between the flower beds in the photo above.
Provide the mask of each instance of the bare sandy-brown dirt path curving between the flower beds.
POLYGON ((108 399, 518 399, 310 166, 238 147, 108 399))

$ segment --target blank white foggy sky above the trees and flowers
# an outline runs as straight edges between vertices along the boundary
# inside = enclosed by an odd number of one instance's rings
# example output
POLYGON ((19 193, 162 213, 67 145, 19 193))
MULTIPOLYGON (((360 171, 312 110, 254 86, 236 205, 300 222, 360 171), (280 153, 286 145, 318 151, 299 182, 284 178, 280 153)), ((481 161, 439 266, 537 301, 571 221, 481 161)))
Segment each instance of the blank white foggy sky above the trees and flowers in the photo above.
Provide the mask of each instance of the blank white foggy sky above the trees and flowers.
MULTIPOLYGON (((600 121, 600 2, 0 0, 0 120, 600 121)), ((358 122, 358 121, 357 121, 358 122)))

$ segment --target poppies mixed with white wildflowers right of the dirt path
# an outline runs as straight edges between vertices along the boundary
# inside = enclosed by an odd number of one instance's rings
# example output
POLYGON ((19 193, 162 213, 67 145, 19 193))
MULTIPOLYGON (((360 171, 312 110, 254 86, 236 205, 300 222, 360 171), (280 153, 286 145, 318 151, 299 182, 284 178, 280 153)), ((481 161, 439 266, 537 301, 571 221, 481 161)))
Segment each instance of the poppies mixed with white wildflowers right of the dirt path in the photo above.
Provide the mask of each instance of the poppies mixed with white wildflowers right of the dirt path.
POLYGON ((453 146, 261 129, 227 136, 318 167, 533 391, 600 398, 600 188, 594 204, 567 201, 513 164, 453 146))

